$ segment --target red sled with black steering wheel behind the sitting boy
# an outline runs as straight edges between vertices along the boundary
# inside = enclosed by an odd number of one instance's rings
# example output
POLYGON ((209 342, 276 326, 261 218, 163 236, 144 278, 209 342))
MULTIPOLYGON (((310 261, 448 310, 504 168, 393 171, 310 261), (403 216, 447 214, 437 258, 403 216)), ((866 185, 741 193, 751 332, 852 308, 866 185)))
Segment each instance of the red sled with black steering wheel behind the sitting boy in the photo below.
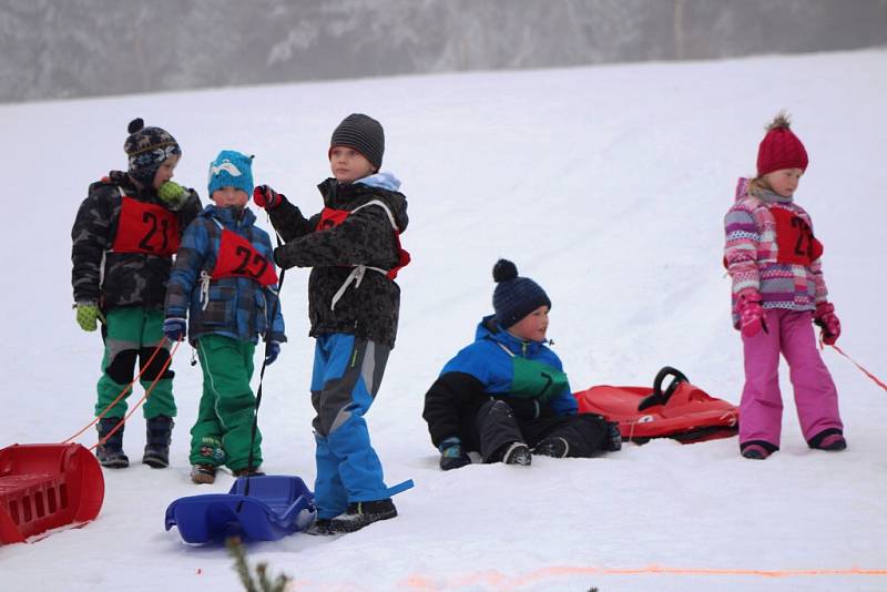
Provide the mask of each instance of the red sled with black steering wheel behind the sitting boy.
POLYGON ((580 414, 598 414, 619 422, 623 440, 643 443, 674 438, 683 443, 728 438, 738 430, 740 410, 708 396, 680 370, 662 368, 649 387, 598 386, 574 392, 580 414), (666 389, 662 381, 672 376, 666 389))

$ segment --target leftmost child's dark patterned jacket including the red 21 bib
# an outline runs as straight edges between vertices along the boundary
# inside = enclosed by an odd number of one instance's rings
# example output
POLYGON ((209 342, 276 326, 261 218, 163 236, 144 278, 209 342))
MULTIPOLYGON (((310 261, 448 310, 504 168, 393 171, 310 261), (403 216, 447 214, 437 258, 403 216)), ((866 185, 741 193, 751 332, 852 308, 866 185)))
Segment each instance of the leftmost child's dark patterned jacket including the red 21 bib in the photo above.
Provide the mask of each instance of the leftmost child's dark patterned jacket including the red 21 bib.
POLYGON ((104 310, 120 306, 163 309, 172 268, 169 251, 200 211, 194 190, 173 212, 154 188, 136 187, 120 171, 90 185, 71 229, 74 302, 99 303, 104 310), (120 232, 124 195, 128 212, 139 215, 125 217, 129 231, 120 232))

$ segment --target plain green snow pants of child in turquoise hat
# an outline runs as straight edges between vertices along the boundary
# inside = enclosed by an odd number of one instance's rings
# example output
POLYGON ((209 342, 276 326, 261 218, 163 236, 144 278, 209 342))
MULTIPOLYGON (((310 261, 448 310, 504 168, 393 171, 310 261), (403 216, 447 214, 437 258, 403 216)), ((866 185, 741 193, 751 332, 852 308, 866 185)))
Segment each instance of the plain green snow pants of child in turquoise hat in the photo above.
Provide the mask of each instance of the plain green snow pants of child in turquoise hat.
MULTIPOLYGON (((232 471, 249 465, 249 439, 256 398, 249 388, 256 346, 221 335, 197 339, 203 369, 203 396, 191 428, 191 463, 227 465, 232 471)), ((253 467, 262 463, 262 433, 256 429, 253 467)))

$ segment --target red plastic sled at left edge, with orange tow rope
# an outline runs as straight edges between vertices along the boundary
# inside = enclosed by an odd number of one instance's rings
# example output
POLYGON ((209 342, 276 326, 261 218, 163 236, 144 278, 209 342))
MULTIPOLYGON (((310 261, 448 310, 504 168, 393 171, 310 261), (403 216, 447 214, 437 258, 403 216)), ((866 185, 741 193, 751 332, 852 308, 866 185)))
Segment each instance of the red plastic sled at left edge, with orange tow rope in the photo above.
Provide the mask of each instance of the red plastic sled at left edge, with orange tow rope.
POLYGON ((80 445, 13 445, 0 450, 0 544, 99 516, 104 477, 80 445))

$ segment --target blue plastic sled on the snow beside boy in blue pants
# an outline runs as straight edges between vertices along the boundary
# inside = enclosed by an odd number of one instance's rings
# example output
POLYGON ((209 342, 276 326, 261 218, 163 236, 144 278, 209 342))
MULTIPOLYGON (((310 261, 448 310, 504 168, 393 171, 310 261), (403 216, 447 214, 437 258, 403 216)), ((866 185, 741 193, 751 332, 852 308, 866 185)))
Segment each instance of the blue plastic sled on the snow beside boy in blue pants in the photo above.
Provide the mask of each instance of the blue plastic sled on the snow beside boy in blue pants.
POLYGON ((228 493, 180 498, 166 508, 166 530, 179 527, 188 543, 276 541, 305 530, 314 520, 314 493, 298 477, 251 477, 234 482, 228 493))

